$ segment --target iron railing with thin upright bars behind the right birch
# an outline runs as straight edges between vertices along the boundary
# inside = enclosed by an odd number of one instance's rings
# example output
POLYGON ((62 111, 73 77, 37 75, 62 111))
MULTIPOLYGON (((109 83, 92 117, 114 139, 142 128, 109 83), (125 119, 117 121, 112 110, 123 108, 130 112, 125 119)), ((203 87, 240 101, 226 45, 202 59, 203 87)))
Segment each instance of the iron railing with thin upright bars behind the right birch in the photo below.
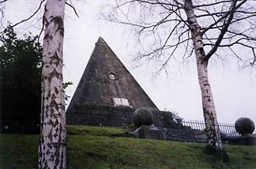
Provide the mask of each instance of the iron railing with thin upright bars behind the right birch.
MULTIPOLYGON (((198 120, 183 120, 183 126, 188 126, 194 130, 204 130, 205 122, 198 120)), ((235 131, 235 125, 229 123, 219 122, 220 131, 223 133, 227 133, 231 136, 239 136, 239 133, 235 131)))

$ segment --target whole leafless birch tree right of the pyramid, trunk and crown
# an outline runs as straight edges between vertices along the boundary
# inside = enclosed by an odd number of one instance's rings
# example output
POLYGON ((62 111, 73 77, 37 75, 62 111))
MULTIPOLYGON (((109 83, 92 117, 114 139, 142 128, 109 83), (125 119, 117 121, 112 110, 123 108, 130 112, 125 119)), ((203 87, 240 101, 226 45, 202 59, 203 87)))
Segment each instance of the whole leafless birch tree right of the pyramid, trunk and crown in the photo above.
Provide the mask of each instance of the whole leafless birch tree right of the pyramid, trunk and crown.
POLYGON ((161 70, 173 59, 184 61, 194 55, 211 152, 222 152, 222 146, 209 85, 209 59, 233 56, 245 66, 255 65, 255 6, 252 0, 120 0, 104 14, 108 21, 130 26, 137 41, 145 44, 135 60, 156 61, 161 70))

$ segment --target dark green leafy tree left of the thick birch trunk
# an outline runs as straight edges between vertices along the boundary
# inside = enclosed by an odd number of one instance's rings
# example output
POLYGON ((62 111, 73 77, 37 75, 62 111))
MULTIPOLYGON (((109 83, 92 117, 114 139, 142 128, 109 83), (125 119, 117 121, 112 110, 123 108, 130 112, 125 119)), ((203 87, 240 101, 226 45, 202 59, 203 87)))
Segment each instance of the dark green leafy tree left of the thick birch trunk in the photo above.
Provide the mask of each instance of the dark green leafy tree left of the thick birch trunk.
POLYGON ((31 35, 18 39, 13 28, 0 40, 1 130, 39 133, 43 48, 31 35))

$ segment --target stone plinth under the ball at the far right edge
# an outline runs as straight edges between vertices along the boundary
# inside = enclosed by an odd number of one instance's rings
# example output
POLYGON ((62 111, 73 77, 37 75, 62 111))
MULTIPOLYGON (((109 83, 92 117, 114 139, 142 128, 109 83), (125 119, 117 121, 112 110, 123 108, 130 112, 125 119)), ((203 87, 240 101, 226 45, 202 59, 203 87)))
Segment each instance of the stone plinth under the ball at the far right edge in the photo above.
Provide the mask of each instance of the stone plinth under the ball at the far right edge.
POLYGON ((247 133, 244 136, 232 138, 229 140, 230 145, 256 145, 256 134, 247 133))

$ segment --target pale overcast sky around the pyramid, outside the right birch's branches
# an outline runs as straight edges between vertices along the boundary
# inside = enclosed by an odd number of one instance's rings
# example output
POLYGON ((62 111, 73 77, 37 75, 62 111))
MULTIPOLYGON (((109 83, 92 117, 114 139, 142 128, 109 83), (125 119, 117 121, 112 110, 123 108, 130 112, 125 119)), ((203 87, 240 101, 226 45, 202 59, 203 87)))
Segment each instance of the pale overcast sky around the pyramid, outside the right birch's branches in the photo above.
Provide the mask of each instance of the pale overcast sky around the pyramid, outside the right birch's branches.
MULTIPOLYGON (((73 85, 66 90, 67 94, 73 96, 96 40, 102 36, 157 107, 161 110, 175 111, 185 119, 202 120, 201 91, 194 58, 186 65, 175 68, 170 66, 168 77, 164 72, 158 77, 152 76, 154 68, 151 65, 134 69, 131 54, 139 48, 134 47, 132 33, 127 32, 125 28, 98 19, 100 6, 104 2, 106 1, 97 0, 77 3, 80 18, 66 6, 64 81, 73 81, 73 85)), ((32 13, 32 9, 37 5, 38 2, 33 1, 12 1, 6 6, 6 21, 20 21, 32 13)), ((36 23, 38 19, 40 18, 35 18, 32 22, 36 23)), ((17 31, 23 34, 30 30, 36 34, 40 32, 38 28, 37 24, 31 26, 27 23, 19 26, 17 31)), ((219 122, 234 123, 240 117, 249 117, 256 122, 255 71, 240 70, 235 60, 218 62, 214 59, 209 63, 209 80, 213 88, 219 122)))

